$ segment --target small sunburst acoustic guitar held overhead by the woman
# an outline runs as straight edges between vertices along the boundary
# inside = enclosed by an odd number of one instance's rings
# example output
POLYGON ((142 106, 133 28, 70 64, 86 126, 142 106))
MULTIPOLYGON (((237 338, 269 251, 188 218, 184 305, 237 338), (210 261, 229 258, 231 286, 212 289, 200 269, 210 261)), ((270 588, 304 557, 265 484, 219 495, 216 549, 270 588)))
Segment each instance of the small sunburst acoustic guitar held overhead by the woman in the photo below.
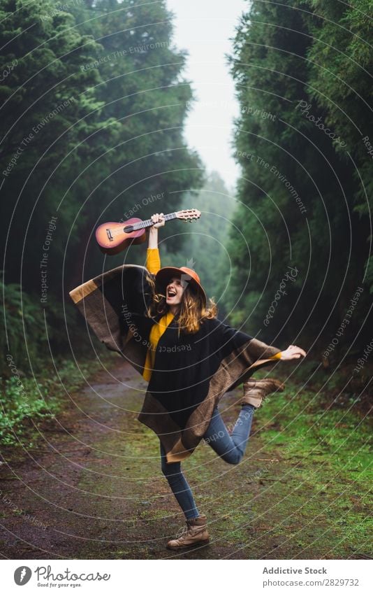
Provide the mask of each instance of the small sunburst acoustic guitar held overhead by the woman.
MULTIPOLYGON (((192 222, 192 220, 200 218, 200 211, 197 211, 196 208, 189 208, 185 211, 164 215, 165 220, 173 220, 174 218, 184 220, 184 222, 192 222)), ((145 229, 152 227, 152 225, 154 225, 154 222, 151 218, 147 220, 130 218, 125 222, 104 222, 103 225, 96 229, 96 241, 104 254, 118 254, 132 243, 145 241, 145 229)))

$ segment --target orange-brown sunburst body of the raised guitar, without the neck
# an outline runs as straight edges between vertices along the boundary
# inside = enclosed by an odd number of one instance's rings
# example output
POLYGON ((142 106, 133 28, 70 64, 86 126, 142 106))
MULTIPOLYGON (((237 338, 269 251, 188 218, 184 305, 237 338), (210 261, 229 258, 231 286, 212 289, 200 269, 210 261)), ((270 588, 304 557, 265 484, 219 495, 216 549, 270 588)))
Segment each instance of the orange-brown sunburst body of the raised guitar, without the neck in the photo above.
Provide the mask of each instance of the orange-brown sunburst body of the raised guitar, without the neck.
POLYGON ((140 218, 130 218, 126 222, 104 222, 96 229, 96 241, 104 254, 114 255, 128 248, 132 243, 143 243, 146 239, 145 229, 125 233, 124 227, 142 222, 140 218))

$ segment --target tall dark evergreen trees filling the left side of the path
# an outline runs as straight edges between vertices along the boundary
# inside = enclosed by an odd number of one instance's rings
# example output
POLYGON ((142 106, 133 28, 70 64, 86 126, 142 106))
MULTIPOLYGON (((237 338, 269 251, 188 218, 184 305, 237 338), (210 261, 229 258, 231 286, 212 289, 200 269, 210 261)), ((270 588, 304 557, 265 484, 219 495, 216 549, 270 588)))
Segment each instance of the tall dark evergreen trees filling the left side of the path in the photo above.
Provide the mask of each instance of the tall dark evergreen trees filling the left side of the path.
MULTIPOLYGON (((84 323, 67 293, 123 262, 103 257, 98 223, 136 205, 140 218, 175 211, 203 172, 183 138, 192 94, 164 1, 0 0, 0 36, 9 339, 0 346, 28 372, 45 366, 50 351, 71 342, 81 349, 84 323), (152 195, 163 196, 156 206, 152 195)), ((136 262, 145 252, 126 256, 136 262)))

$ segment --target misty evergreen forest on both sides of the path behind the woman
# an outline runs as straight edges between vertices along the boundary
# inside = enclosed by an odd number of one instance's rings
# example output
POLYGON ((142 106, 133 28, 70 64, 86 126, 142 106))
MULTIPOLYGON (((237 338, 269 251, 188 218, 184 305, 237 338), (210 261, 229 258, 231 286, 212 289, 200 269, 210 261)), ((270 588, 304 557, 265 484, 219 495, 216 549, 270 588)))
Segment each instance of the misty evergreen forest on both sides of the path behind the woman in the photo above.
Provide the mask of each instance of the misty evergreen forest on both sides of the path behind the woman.
POLYGON ((167 2, 0 0, 4 405, 22 381, 38 400, 56 362, 66 379, 75 358, 94 365, 68 291, 145 264, 138 246, 103 255, 97 225, 191 206, 203 215, 190 234, 165 227, 163 264, 196 264, 231 325, 305 346, 305 374, 337 369, 365 390, 371 13, 371 0, 247 2, 227 57, 241 169, 227 189, 184 138, 195 98, 167 2))

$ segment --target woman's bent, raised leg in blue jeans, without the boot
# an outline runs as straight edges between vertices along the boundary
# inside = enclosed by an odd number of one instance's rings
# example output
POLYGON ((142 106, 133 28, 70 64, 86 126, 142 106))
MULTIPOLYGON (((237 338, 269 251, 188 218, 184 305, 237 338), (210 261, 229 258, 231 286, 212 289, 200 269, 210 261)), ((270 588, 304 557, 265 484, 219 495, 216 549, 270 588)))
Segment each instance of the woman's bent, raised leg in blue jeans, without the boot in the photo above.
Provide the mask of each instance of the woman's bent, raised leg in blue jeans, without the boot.
POLYGON ((203 436, 206 443, 228 464, 238 464, 242 460, 249 441, 251 423, 255 406, 244 404, 230 435, 218 409, 214 409, 210 425, 203 436))

